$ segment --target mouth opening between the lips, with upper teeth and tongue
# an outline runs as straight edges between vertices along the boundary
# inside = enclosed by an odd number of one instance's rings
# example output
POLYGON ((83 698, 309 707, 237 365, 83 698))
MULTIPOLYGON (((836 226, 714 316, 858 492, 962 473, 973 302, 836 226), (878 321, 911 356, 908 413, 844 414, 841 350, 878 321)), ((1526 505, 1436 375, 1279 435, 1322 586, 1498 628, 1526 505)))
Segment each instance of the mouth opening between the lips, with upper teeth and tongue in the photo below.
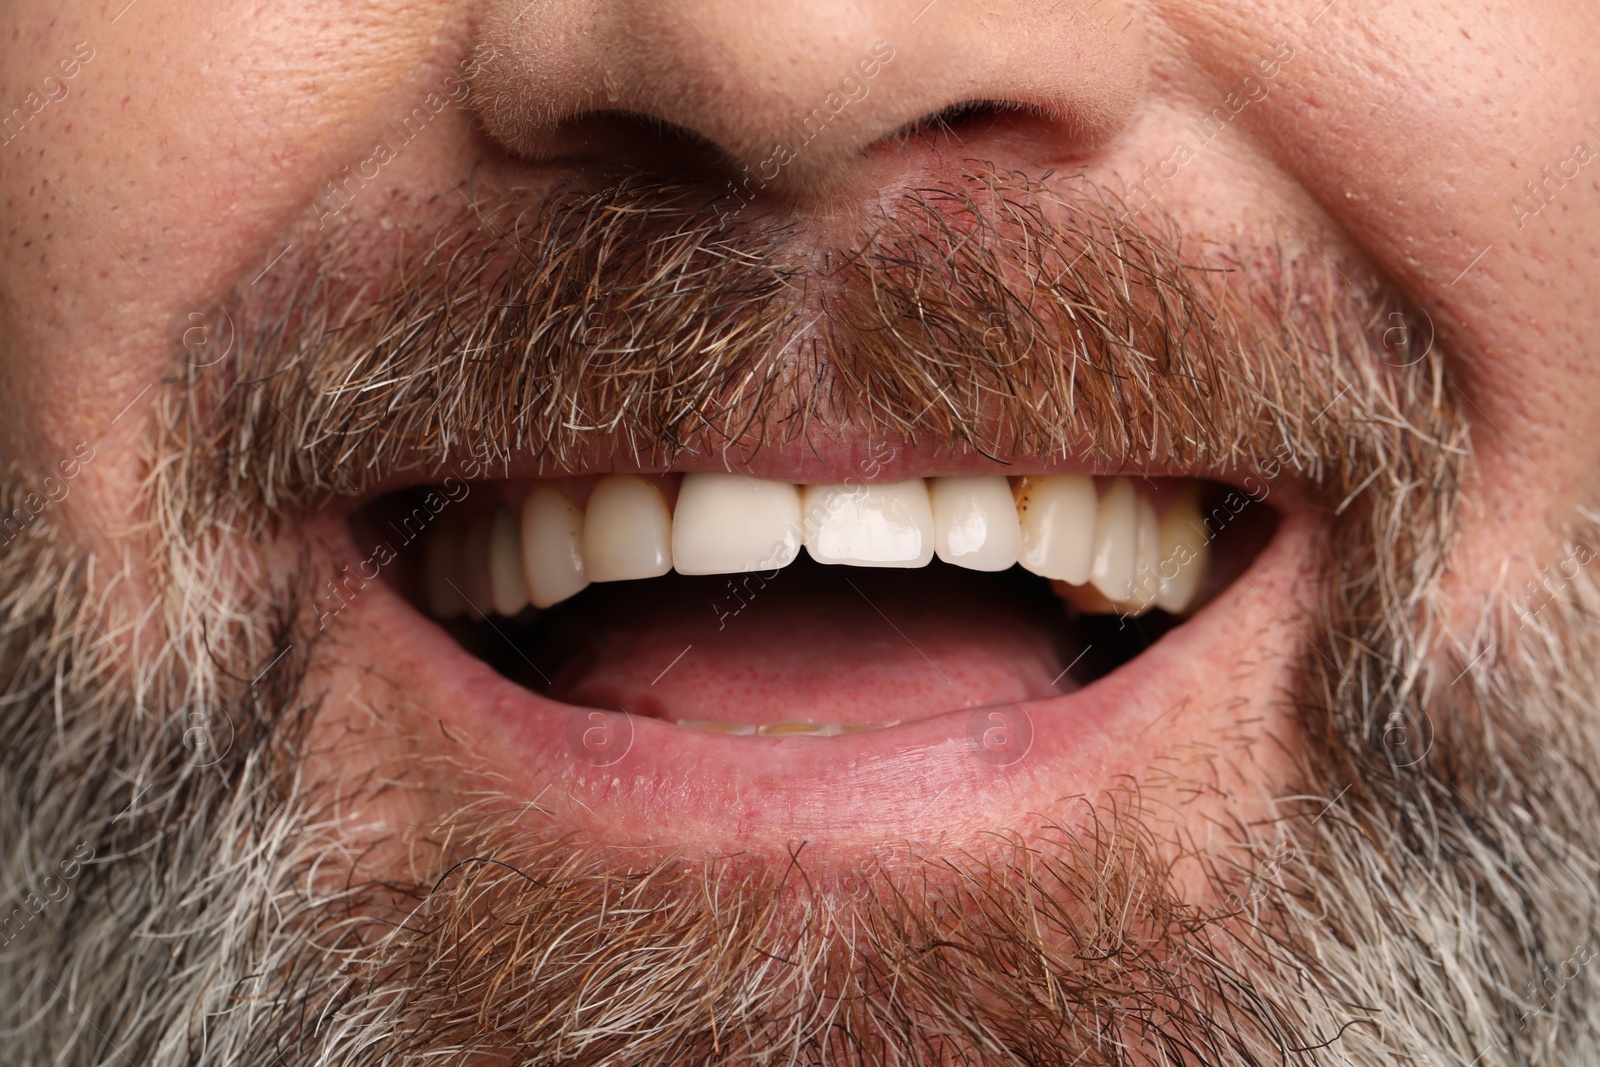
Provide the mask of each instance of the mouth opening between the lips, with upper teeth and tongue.
POLYGON ((1277 525, 1198 478, 486 488, 459 504, 445 486, 397 493, 352 526, 414 542, 392 585, 502 678, 734 742, 837 742, 1074 694, 1214 600, 1277 525))

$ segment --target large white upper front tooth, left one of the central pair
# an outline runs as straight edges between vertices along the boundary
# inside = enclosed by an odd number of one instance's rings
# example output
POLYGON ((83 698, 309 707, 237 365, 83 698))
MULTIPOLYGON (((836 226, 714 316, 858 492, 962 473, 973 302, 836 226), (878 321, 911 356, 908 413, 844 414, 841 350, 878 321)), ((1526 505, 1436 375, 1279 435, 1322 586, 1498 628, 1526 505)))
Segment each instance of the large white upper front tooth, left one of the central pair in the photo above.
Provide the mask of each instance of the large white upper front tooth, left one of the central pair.
POLYGON ((800 555, 800 490, 739 474, 683 475, 672 512, 680 574, 738 574, 789 566, 800 555))

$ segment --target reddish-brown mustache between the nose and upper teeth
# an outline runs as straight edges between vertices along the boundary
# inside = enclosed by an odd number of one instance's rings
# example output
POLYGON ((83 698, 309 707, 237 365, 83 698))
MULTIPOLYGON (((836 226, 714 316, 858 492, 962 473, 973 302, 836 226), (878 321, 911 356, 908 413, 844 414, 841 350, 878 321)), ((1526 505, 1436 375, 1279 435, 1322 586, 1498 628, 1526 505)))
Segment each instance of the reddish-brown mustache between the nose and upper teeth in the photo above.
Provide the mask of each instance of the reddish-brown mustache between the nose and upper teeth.
POLYGON ((1170 222, 1082 181, 974 171, 854 226, 819 248, 794 219, 730 226, 704 187, 622 176, 474 205, 381 278, 350 267, 366 235, 320 245, 211 309, 221 354, 181 334, 162 426, 186 518, 294 515, 451 464, 666 466, 846 427, 1002 459, 1290 469, 1342 494, 1394 461, 1346 430, 1438 370, 1392 296, 1272 250, 1189 261, 1170 222))

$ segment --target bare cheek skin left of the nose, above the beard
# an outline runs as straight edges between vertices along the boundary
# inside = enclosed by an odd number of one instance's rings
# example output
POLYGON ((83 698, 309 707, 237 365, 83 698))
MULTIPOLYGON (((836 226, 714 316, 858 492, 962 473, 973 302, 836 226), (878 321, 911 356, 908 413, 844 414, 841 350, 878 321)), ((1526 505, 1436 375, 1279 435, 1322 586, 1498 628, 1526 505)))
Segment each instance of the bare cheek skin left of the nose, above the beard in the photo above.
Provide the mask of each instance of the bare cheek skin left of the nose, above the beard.
POLYGON ((5 22, 27 30, 0 42, 0 110, 78 42, 94 50, 0 149, 0 448, 48 466, 99 446, 85 531, 128 514, 168 320, 259 272, 322 182, 443 85, 434 59, 466 32, 445 3, 405 21, 355 2, 120 6, 10 0, 5 22))

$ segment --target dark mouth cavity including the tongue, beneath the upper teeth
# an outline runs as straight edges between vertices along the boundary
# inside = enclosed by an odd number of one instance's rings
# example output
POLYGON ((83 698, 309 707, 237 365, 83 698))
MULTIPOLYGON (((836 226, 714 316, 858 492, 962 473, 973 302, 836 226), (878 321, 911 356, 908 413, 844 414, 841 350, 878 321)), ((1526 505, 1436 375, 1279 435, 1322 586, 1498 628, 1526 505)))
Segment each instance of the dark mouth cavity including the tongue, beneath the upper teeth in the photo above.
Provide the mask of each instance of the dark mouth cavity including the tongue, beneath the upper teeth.
MULTIPOLYGON (((366 558, 392 555, 376 568, 382 581, 539 696, 722 734, 838 736, 1067 694, 1138 659, 1248 569, 1275 526, 1272 509, 1238 490, 1190 488, 1208 558, 1179 613, 1110 605, 1022 565, 838 566, 802 549, 760 571, 594 581, 546 608, 502 614, 483 605, 442 617, 426 573, 427 539, 438 531, 406 536, 403 522, 429 490, 374 502, 352 518, 352 533, 366 558)), ((1178 493, 1165 485, 1152 496, 1178 493)), ((517 496, 506 486, 466 496, 451 504, 456 530, 517 496)), ((458 534, 461 542, 470 553, 470 537, 458 534)))

